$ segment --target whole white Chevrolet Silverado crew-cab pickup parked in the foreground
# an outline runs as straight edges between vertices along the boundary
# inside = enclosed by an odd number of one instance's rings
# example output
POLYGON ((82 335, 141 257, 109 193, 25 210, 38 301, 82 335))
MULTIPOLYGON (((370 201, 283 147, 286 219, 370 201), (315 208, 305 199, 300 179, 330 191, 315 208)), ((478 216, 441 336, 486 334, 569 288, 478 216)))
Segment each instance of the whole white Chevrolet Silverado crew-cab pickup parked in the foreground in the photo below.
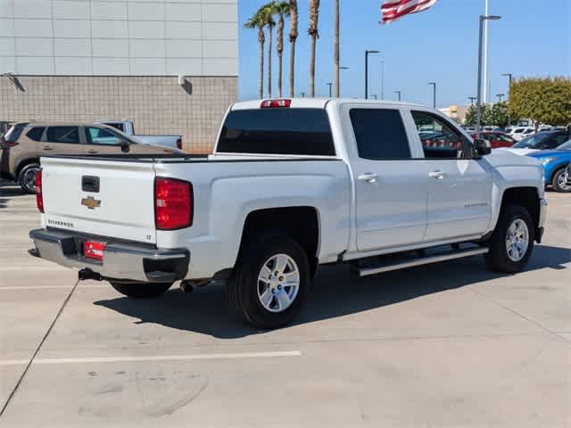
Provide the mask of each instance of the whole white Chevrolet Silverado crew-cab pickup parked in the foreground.
POLYGON ((421 105, 236 103, 208 157, 42 158, 30 252, 130 297, 223 281, 232 309, 274 328, 321 264, 366 276, 484 254, 522 270, 543 187, 538 161, 490 154, 421 105))

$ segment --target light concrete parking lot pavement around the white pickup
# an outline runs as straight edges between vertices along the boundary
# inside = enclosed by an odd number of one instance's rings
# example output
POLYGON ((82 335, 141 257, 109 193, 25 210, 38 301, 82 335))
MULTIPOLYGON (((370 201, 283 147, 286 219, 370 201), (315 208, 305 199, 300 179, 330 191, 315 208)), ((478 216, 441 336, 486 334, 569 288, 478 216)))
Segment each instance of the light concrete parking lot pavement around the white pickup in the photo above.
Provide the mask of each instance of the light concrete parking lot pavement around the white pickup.
MULTIPOLYGON (((480 257, 326 268, 273 332, 231 317, 218 286, 128 300, 80 283, 0 426, 571 426, 571 195, 548 198, 523 274, 480 257)), ((0 407, 76 282, 28 255, 37 225, 33 196, 0 182, 0 407)))

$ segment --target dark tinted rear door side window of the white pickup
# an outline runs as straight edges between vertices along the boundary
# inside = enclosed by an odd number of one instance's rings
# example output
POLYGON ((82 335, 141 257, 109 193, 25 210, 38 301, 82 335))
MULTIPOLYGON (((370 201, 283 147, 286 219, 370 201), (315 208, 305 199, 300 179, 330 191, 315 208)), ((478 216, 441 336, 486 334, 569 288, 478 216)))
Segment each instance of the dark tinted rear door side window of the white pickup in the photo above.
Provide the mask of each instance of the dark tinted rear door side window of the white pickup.
POLYGON ((389 109, 351 109, 359 157, 374 161, 410 159, 409 138, 401 112, 389 109))

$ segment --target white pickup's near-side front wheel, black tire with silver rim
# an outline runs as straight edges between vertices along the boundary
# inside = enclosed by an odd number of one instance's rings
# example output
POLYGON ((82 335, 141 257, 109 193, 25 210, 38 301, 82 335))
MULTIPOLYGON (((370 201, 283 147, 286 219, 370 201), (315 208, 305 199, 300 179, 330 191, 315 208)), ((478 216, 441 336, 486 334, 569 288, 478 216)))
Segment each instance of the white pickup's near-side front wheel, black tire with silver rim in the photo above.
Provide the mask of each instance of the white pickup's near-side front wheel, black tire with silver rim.
POLYGON ((534 222, 524 207, 502 209, 490 238, 490 251, 484 255, 488 268, 508 274, 521 272, 534 251, 534 238, 534 222))

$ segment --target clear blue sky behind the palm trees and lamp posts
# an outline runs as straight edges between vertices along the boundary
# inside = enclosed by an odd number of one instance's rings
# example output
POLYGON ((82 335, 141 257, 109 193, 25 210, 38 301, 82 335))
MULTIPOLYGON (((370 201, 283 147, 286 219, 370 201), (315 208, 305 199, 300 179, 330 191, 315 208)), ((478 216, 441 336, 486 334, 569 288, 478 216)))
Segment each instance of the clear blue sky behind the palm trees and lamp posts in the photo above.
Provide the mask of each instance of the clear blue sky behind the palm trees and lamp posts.
MULTIPOLYGON (((238 0, 240 78, 239 98, 258 98, 258 38, 243 29, 248 17, 267 0, 238 0)), ((404 101, 432 103, 437 83, 437 106, 467 104, 476 95, 478 15, 484 0, 439 0, 432 9, 381 26, 380 0, 341 0, 342 95, 364 96, 364 51, 369 57, 369 94, 381 97, 381 62, 385 60, 385 99, 401 90, 404 101)), ((300 37, 296 47, 296 93, 308 92, 310 37, 309 0, 299 0, 300 37)), ((571 0, 490 0, 489 75, 491 94, 507 93, 507 78, 571 74, 571 0)), ((285 31, 289 29, 286 23, 285 31)), ((328 95, 333 81, 333 0, 321 0, 316 65, 316 92, 328 95)), ((275 37, 274 37, 275 40, 275 37)), ((287 41, 287 39, 285 38, 287 41)), ((284 51, 284 89, 287 94, 289 44, 284 51)), ((277 95, 277 56, 273 53, 273 93, 277 95)), ((266 77, 267 78, 267 71, 266 77)), ((267 89, 267 83, 264 84, 267 89)), ((495 96, 493 96, 496 99, 495 96)))

